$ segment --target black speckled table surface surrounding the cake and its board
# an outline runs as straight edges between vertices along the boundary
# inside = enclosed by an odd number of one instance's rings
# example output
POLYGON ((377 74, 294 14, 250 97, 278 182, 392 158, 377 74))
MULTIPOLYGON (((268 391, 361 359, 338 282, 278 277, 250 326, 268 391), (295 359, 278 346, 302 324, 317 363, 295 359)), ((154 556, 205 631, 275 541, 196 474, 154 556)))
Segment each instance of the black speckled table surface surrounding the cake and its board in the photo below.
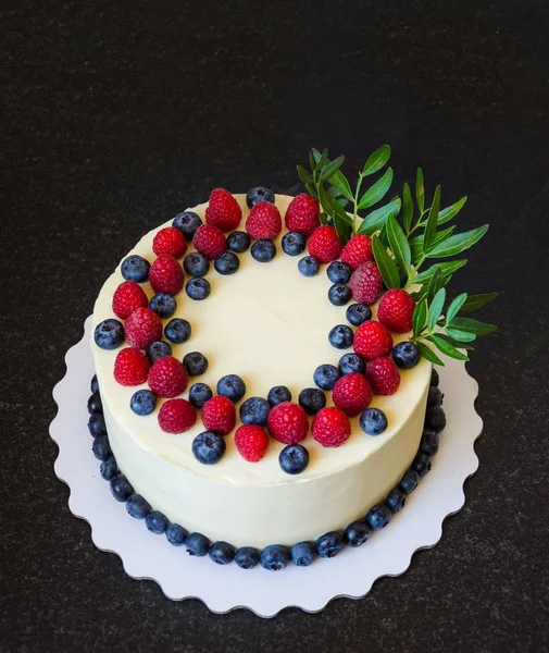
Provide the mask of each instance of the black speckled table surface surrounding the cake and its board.
POLYGON ((80 0, 0 19, 0 650, 548 650, 547 2, 80 0), (311 146, 353 173, 382 143, 398 185, 422 165, 428 192, 469 195, 462 229, 491 224, 454 279, 501 291, 469 364, 485 432, 465 507, 402 577, 320 614, 173 603, 68 512, 48 435, 64 353, 124 252, 212 187, 297 192, 311 146))

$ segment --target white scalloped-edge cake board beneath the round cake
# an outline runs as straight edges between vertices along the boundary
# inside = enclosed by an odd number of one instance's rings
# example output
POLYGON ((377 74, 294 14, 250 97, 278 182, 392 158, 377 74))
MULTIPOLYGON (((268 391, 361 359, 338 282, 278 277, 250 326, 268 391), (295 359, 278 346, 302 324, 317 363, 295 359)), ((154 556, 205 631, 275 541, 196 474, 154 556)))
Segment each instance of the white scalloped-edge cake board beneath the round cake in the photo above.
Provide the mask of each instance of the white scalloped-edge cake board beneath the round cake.
POLYGON ((377 578, 403 574, 415 551, 435 545, 444 519, 464 504, 463 483, 478 467, 474 452, 483 429, 474 407, 478 385, 462 362, 446 359, 439 373, 448 426, 439 452, 431 472, 386 529, 360 549, 346 547, 336 558, 319 559, 307 568, 289 565, 279 572, 260 566, 251 570, 234 564, 222 567, 208 556, 190 557, 129 517, 99 475, 87 429, 86 404, 93 374, 90 338, 91 317, 83 340, 67 352, 66 374, 53 390, 59 406, 50 427, 59 445, 55 473, 71 490, 71 512, 91 526, 96 546, 116 553, 132 578, 158 582, 169 599, 200 599, 215 613, 246 607, 261 617, 273 617, 288 606, 317 612, 338 596, 359 599, 377 578))

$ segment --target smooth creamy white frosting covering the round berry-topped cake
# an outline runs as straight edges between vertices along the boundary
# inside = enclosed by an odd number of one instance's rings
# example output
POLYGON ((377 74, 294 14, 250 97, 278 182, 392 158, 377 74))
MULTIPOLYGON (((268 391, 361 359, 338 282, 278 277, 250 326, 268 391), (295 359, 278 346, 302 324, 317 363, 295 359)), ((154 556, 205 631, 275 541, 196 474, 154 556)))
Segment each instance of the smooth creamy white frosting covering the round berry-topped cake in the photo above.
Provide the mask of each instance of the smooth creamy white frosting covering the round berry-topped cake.
MULTIPOLYGON (((245 219, 245 196, 235 197, 245 219)), ((276 198, 283 217, 290 200, 276 198)), ((205 207, 192 210, 203 217, 205 207)), ((170 223, 147 234, 130 254, 152 261, 153 236, 170 223)), ((325 267, 317 276, 302 276, 297 269, 300 257, 285 255, 279 242, 270 263, 254 261, 249 251, 238 256, 240 270, 234 275, 222 276, 212 266, 208 299, 195 301, 185 291, 178 294, 173 317, 187 319, 192 333, 186 343, 172 345, 173 355, 180 360, 188 352, 201 352, 209 359, 207 372, 190 383, 204 382, 215 391, 221 377, 236 373, 246 382, 245 399, 266 397, 271 387, 284 384, 297 401, 300 390, 314 386, 312 375, 319 365, 337 365, 345 354, 329 344, 328 332, 346 323, 346 309, 327 299, 330 282, 325 267)), ((118 267, 99 294, 95 324, 115 317, 112 296, 122 281, 118 267)), ((144 288, 151 297, 148 283, 144 288)), ((397 483, 419 446, 431 378, 431 365, 423 359, 413 370, 401 372, 395 395, 374 397, 372 406, 382 408, 389 421, 385 433, 366 435, 353 418, 352 434, 338 448, 324 448, 309 434, 303 442, 311 456, 309 467, 288 476, 278 465, 283 444, 271 440, 265 457, 248 463, 236 451, 233 434, 226 438, 222 460, 202 465, 191 452, 192 439, 204 430, 200 418, 186 433, 162 432, 158 408, 148 417, 130 410, 129 399, 137 389, 114 381, 116 352, 95 344, 92 349, 110 442, 122 471, 154 508, 211 540, 254 546, 291 544, 341 528, 363 516, 397 483)))

